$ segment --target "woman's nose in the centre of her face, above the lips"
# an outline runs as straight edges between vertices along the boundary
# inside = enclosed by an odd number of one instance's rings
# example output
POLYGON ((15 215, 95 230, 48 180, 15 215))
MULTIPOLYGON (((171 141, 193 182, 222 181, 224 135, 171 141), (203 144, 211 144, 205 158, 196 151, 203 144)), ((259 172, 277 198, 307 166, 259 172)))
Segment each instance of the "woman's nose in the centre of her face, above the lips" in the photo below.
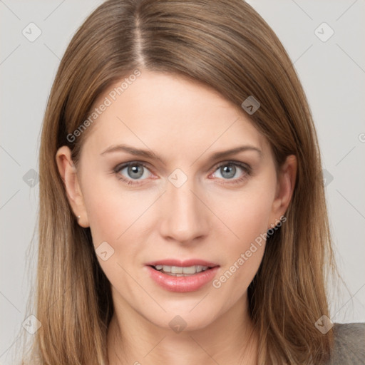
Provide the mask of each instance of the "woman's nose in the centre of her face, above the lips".
POLYGON ((180 187, 168 183, 161 199, 160 234, 165 240, 187 244, 207 236, 210 212, 203 203, 207 198, 196 189, 192 179, 180 187))

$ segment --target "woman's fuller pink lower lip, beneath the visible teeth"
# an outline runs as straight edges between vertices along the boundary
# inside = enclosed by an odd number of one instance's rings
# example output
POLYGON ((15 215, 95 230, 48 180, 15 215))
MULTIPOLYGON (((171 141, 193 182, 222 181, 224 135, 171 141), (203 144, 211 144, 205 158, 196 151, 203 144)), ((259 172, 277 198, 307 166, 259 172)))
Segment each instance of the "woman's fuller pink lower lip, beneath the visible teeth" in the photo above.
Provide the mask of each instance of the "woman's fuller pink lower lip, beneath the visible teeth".
POLYGON ((150 277, 152 277, 160 287, 163 287, 163 289, 166 289, 169 292, 185 293, 195 292, 208 282, 211 282, 215 277, 215 274, 217 274, 219 266, 212 267, 212 269, 207 269, 204 272, 192 274, 188 277, 175 277, 164 274, 150 266, 147 266, 147 269, 150 277))

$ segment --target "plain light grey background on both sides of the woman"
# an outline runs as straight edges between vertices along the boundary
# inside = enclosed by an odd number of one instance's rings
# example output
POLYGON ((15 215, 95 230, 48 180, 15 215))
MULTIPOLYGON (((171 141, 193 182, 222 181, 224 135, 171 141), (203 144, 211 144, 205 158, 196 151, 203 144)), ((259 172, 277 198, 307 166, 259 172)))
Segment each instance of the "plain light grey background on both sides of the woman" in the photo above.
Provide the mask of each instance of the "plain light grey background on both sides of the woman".
MULTIPOLYGON (((41 121, 58 63, 101 2, 0 0, 0 364, 12 363, 16 336, 31 314, 26 300, 36 260, 28 271, 27 249, 36 228, 38 185, 30 187, 23 177, 38 171, 41 121), (31 22, 42 32, 34 42, 22 34, 31 22)), ((331 319, 364 322, 365 1, 247 2, 287 49, 317 125, 334 249, 349 288, 332 294, 331 319), (334 30, 325 42, 314 33, 323 22, 334 30)), ((319 28, 322 37, 328 31, 319 28)))

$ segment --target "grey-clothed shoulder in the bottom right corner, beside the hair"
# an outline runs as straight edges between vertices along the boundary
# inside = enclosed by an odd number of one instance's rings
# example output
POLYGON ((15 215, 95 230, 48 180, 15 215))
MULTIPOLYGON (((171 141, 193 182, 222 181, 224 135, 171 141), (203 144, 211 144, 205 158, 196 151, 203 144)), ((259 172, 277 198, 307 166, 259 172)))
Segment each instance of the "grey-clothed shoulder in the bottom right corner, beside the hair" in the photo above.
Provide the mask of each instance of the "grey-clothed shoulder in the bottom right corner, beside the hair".
POLYGON ((365 323, 335 323, 334 349, 328 365, 365 364, 365 323))

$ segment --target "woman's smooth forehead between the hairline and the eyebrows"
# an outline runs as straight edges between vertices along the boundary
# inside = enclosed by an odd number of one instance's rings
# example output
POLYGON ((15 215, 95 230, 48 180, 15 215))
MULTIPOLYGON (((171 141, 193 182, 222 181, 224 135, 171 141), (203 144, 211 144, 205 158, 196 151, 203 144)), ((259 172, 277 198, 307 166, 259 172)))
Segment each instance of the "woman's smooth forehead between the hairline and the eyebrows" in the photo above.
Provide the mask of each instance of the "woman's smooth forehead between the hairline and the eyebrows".
POLYGON ((86 145, 103 150, 110 144, 133 143, 161 153, 202 153, 210 145, 232 148, 267 144, 243 110, 201 83, 167 73, 142 71, 134 81, 120 80, 101 95, 98 118, 86 145))

